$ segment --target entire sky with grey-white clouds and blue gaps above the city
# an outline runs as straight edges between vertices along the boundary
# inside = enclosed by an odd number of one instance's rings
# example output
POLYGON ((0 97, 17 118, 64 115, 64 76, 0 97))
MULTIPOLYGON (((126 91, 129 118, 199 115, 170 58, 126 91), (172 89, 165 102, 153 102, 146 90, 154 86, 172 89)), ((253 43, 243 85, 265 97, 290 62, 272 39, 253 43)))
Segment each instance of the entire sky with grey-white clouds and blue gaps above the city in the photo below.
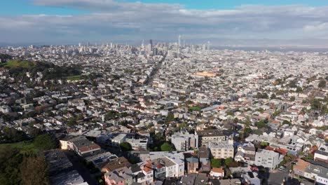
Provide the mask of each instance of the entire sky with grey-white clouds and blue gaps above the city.
POLYGON ((328 39, 327 0, 10 0, 0 43, 328 39))

